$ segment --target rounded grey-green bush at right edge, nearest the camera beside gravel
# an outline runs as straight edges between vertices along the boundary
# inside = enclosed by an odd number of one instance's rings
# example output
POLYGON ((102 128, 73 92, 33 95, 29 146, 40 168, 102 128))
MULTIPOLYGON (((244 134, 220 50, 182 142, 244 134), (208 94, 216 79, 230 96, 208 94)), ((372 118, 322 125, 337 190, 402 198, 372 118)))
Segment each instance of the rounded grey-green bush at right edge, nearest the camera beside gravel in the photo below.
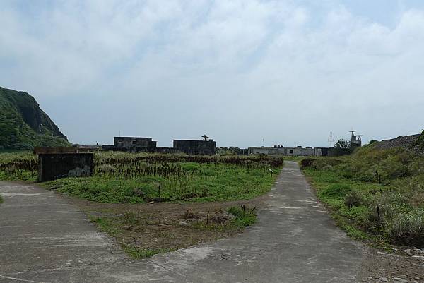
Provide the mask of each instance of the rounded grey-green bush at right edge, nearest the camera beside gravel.
POLYGON ((406 212, 391 224, 389 235, 394 243, 424 248, 424 213, 406 212))

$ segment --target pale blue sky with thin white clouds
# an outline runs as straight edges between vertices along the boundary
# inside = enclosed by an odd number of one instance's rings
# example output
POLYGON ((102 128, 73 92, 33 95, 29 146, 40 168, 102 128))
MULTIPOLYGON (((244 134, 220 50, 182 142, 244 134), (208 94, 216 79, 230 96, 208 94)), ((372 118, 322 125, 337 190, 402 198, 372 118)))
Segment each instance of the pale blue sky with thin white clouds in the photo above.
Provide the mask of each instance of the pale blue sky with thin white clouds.
POLYGON ((0 86, 72 143, 328 146, 424 128, 424 1, 12 1, 0 86))

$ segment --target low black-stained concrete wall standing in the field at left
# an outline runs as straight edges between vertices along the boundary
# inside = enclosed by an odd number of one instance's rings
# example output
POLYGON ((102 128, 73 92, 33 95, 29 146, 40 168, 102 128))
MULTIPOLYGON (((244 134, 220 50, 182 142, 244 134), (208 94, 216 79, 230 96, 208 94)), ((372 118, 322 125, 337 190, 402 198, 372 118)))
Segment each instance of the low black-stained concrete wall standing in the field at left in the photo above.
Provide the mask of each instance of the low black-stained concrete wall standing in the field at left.
POLYGON ((59 153, 38 155, 38 181, 52 181, 66 177, 91 176, 92 153, 59 153))

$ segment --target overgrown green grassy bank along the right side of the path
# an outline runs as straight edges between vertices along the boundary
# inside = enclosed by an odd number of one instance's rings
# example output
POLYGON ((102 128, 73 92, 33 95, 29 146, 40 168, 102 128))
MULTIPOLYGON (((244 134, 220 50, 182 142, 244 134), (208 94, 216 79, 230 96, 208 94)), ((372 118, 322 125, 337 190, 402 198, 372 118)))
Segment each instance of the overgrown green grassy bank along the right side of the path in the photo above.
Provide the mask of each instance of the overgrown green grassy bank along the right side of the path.
POLYGON ((348 234, 424 248, 424 156, 413 148, 366 145, 345 157, 302 160, 319 199, 348 234))

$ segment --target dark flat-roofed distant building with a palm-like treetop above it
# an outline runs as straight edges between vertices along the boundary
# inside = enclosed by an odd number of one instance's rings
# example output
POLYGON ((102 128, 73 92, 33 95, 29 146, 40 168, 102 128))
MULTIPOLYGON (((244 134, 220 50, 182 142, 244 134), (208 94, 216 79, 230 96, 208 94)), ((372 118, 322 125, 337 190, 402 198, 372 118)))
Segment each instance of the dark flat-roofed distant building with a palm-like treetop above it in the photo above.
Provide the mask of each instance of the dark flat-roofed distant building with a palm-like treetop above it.
POLYGON ((174 140, 176 153, 187 155, 215 155, 216 142, 214 140, 174 140))

